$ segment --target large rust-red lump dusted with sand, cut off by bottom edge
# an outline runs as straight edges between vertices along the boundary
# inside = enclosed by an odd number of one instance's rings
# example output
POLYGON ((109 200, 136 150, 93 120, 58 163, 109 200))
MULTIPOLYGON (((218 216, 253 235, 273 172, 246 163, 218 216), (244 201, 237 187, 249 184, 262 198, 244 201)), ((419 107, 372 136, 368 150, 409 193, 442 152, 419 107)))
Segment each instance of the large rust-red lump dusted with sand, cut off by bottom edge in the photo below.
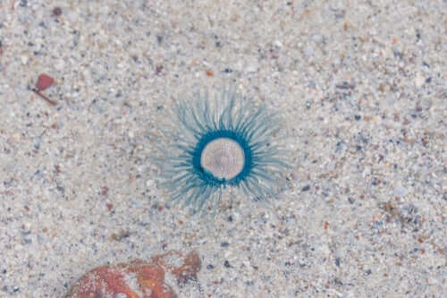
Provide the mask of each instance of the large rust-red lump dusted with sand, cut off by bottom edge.
POLYGON ((156 255, 151 260, 101 266, 90 270, 72 285, 66 298, 175 298, 171 286, 164 282, 165 270, 181 284, 197 279, 201 261, 196 251, 183 256, 180 251, 156 255), (179 262, 179 259, 181 262, 179 262), (180 267, 170 263, 181 263, 180 267))

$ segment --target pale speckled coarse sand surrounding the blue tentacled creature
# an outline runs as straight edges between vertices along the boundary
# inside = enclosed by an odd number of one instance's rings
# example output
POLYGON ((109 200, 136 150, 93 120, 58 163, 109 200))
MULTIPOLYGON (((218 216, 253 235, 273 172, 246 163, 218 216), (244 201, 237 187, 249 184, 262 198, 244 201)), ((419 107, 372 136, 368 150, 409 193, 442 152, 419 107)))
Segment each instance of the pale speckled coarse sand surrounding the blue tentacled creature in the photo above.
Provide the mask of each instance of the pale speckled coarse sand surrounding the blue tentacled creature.
POLYGON ((163 245, 202 257, 181 297, 446 293, 447 3, 180 2, 0 1, 0 297, 163 245), (158 208, 174 101, 229 80, 286 119, 287 189, 158 208))

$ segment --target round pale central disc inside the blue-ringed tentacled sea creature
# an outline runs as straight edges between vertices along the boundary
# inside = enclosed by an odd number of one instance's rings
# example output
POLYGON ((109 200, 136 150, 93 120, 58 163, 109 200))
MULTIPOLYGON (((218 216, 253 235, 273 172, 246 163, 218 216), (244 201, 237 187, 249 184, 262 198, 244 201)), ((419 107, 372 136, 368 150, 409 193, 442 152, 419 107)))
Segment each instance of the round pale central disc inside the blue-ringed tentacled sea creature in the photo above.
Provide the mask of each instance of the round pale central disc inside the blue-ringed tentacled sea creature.
POLYGON ((232 179, 240 174, 244 164, 245 156, 240 144, 228 138, 210 141, 200 156, 200 166, 219 179, 232 179))

